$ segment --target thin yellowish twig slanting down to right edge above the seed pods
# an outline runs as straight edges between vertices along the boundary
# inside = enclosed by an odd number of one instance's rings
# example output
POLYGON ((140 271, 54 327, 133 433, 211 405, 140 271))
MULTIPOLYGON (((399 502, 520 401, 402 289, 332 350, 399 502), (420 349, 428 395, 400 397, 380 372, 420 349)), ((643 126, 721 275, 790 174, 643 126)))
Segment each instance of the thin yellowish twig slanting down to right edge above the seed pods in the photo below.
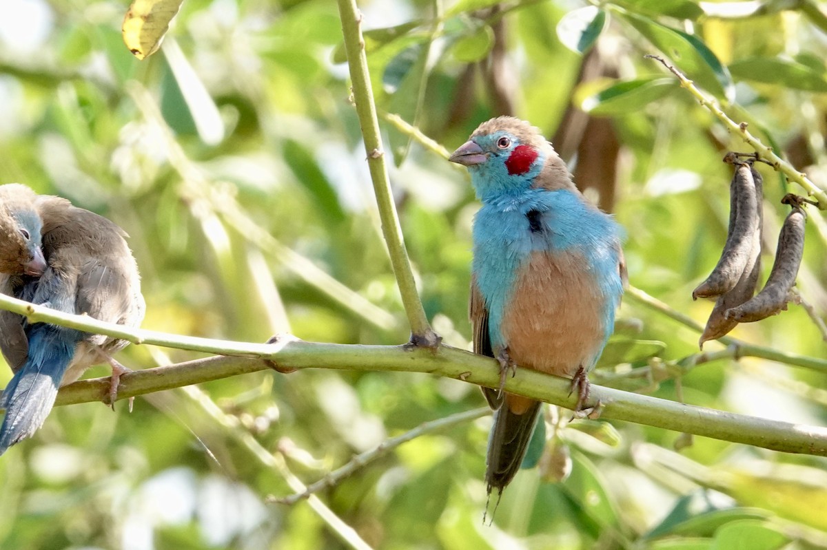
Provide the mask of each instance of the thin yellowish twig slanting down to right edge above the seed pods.
POLYGON ((791 181, 798 183, 801 187, 804 187, 808 195, 815 197, 819 202, 818 206, 820 210, 827 210, 827 192, 815 185, 815 183, 812 183, 810 178, 807 178, 805 173, 799 172, 794 166, 775 154, 775 152, 772 151, 772 147, 763 145, 758 138, 749 133, 746 122, 737 124, 729 118, 724 111, 721 111, 721 108, 718 106, 718 102, 715 98, 707 97, 705 93, 701 92, 700 89, 696 87, 695 83, 693 83, 689 78, 686 78, 681 71, 668 64, 666 59, 663 59, 659 55, 644 55, 643 57, 646 59, 655 59, 664 67, 669 69, 669 71, 677 77, 678 81, 680 81, 681 88, 686 88, 693 96, 695 96, 701 105, 706 107, 718 118, 719 121, 723 122, 724 126, 727 126, 729 131, 741 135, 741 138, 753 149, 755 149, 758 155, 765 159, 768 164, 771 164, 773 168, 784 173, 791 181))

